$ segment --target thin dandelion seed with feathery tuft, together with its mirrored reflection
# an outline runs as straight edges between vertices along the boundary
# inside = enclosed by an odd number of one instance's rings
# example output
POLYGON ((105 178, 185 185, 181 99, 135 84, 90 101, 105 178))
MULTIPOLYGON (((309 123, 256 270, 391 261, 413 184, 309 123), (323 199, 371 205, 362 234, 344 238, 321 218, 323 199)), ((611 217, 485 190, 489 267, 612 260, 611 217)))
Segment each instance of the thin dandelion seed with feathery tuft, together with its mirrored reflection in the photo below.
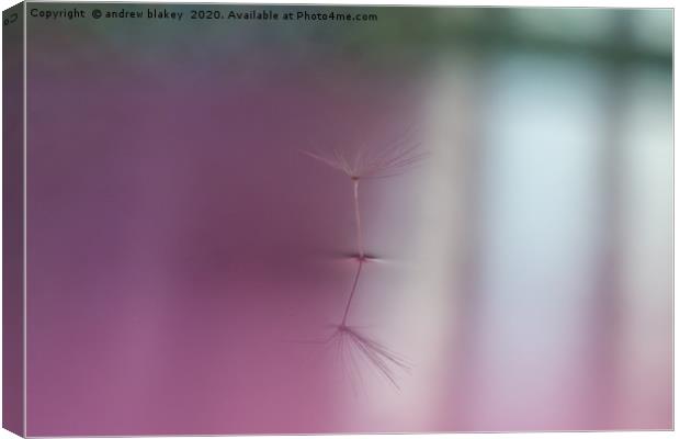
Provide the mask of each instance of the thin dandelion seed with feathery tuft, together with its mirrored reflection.
POLYGON ((359 327, 350 325, 351 307, 358 291, 364 266, 374 261, 375 258, 366 252, 362 227, 362 214, 360 206, 360 187, 364 180, 397 177, 410 170, 421 162, 428 155, 421 149, 419 142, 412 140, 411 132, 403 134, 399 138, 388 144, 379 145, 369 150, 359 148, 353 155, 333 148, 330 153, 303 151, 315 160, 329 166, 344 175, 352 185, 354 226, 356 248, 351 259, 355 261, 356 269, 345 302, 342 318, 339 324, 332 325, 333 331, 326 344, 335 346, 339 356, 347 356, 350 364, 358 368, 356 354, 399 389, 397 370, 410 371, 409 363, 398 353, 387 348, 382 342, 363 334, 359 327))

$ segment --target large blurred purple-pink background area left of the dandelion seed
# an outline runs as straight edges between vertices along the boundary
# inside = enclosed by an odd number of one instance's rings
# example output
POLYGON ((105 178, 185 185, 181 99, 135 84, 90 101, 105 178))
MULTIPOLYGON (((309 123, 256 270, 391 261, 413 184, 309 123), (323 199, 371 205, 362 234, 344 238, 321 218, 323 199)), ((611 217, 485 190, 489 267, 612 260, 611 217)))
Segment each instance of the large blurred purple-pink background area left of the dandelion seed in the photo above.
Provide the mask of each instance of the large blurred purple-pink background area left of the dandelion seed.
POLYGON ((348 430, 304 341, 347 297, 351 185, 303 150, 390 86, 92 49, 30 50, 31 435, 348 430))

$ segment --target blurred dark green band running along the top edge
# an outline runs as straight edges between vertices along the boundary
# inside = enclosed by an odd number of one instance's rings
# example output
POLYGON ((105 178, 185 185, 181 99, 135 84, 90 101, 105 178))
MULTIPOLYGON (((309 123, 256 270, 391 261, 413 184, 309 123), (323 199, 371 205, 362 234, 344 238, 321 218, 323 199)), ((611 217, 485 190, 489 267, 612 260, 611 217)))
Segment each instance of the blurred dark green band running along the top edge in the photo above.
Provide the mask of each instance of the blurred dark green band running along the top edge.
MULTIPOLYGON (((57 8, 45 3, 39 8, 57 8)), ((464 50, 492 55, 529 50, 553 55, 586 55, 602 61, 672 65, 672 10, 597 8, 442 8, 341 5, 235 5, 59 3, 58 8, 182 11, 181 22, 149 20, 45 21, 29 18, 32 32, 69 26, 86 30, 134 49, 140 42, 159 52, 195 49, 206 43, 224 49, 319 49, 376 64, 417 63, 464 50), (191 10, 366 13, 376 21, 189 20, 191 10)), ((65 29, 63 29, 65 30, 65 29)), ((201 50, 201 48, 197 48, 201 50)))

